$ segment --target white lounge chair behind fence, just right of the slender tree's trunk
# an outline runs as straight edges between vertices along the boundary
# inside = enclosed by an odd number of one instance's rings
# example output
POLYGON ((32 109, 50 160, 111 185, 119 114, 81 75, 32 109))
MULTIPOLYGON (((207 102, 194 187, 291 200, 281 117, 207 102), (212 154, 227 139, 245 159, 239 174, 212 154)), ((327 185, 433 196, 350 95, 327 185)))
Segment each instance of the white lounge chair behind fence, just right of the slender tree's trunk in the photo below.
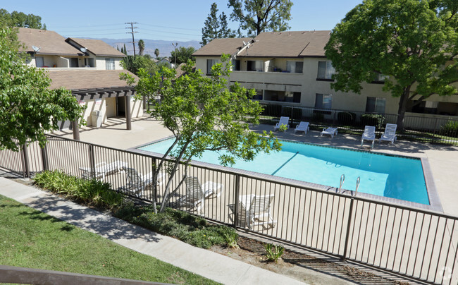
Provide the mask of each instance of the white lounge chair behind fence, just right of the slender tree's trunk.
POLYGON ((197 212, 202 212, 204 207, 205 198, 212 196, 219 197, 223 184, 216 183, 213 181, 206 181, 204 184, 200 184, 199 178, 193 176, 186 176, 186 195, 178 201, 180 205, 185 205, 191 209, 197 208, 197 212))

